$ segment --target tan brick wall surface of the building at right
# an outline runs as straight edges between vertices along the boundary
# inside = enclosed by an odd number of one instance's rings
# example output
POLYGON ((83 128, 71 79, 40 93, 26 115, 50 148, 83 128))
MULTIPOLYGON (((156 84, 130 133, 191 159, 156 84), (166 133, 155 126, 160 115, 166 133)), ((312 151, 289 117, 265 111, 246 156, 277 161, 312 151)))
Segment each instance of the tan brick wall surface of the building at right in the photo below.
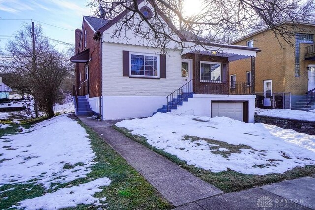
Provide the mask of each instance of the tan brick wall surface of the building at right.
MULTIPOLYGON (((300 26, 295 32, 315 34, 315 27, 300 26)), ((283 38, 279 37, 278 40, 271 30, 254 34, 234 44, 246 46, 246 42, 251 39, 253 39, 254 47, 261 50, 256 57, 255 92, 263 92, 263 82, 272 80, 272 92, 291 92, 292 95, 304 95, 308 90, 306 68, 309 64, 315 64, 315 61, 304 60, 305 47, 310 44, 300 44, 300 77, 296 77, 293 46, 285 42, 283 38)), ((295 43, 293 36, 289 40, 295 43)), ((236 81, 246 81, 246 72, 250 71, 250 62, 249 58, 231 62, 230 75, 236 74, 236 81)))

